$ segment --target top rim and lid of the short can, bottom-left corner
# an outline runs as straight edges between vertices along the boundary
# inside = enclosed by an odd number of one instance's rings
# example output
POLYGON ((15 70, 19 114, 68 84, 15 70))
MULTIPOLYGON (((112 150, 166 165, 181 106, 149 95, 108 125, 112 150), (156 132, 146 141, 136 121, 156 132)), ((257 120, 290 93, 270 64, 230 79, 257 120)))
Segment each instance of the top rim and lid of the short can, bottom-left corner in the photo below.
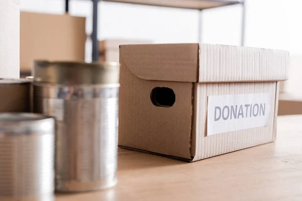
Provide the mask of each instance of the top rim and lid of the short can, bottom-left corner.
POLYGON ((0 113, 0 137, 2 135, 44 134, 45 132, 49 134, 54 132, 52 117, 32 113, 0 113))

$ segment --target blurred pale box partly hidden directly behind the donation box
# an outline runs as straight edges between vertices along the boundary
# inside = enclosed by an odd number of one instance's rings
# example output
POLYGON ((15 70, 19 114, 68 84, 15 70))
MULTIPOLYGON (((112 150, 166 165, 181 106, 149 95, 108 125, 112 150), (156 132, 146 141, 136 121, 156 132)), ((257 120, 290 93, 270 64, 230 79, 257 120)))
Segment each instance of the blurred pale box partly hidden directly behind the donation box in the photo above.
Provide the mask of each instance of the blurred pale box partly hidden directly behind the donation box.
POLYGON ((127 44, 149 44, 151 41, 108 39, 99 44, 100 61, 119 62, 119 46, 127 44))

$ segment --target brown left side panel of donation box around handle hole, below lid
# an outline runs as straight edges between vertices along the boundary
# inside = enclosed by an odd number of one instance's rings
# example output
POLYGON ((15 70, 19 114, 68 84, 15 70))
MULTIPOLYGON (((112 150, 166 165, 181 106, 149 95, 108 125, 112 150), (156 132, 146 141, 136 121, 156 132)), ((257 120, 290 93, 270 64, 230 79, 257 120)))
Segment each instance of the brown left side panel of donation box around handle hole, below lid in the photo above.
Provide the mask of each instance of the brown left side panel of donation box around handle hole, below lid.
POLYGON ((123 58, 121 55, 119 145, 190 159, 192 83, 138 78, 123 58), (174 90, 176 102, 171 108, 152 104, 150 93, 158 86, 174 90))

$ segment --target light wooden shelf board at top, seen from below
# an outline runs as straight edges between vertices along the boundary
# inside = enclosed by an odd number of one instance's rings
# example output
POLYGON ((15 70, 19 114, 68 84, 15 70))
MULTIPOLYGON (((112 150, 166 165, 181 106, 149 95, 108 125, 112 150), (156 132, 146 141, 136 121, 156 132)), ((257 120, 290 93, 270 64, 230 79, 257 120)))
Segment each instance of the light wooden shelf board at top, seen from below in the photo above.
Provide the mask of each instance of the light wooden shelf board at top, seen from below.
POLYGON ((230 0, 105 0, 107 2, 121 2, 121 3, 131 3, 131 4, 143 4, 143 5, 153 5, 153 6, 164 6, 164 7, 175 7, 184 9, 210 9, 215 7, 226 6, 230 4, 239 3, 239 1, 230 0))

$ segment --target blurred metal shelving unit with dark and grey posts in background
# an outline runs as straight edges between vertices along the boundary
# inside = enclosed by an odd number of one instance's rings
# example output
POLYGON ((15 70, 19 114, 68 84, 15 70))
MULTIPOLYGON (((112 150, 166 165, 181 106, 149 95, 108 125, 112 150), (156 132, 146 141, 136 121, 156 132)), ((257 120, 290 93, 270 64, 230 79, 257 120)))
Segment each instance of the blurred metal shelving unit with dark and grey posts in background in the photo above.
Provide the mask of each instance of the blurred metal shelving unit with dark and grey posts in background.
MULTIPOLYGON (((199 29, 198 29, 198 40, 201 42, 201 11, 205 9, 212 9, 217 7, 224 7, 230 5, 241 4, 243 7, 242 12, 242 39, 241 45, 244 45, 245 35, 245 4, 242 1, 230 1, 230 0, 91 0, 93 2, 93 31, 92 31, 92 60, 98 61, 99 49, 98 49, 98 2, 116 2, 116 3, 127 3, 147 6, 159 6, 159 7, 170 7, 170 8, 181 8, 181 9, 193 9, 199 10, 199 29)), ((69 10, 69 0, 65 0, 65 12, 69 10)))

